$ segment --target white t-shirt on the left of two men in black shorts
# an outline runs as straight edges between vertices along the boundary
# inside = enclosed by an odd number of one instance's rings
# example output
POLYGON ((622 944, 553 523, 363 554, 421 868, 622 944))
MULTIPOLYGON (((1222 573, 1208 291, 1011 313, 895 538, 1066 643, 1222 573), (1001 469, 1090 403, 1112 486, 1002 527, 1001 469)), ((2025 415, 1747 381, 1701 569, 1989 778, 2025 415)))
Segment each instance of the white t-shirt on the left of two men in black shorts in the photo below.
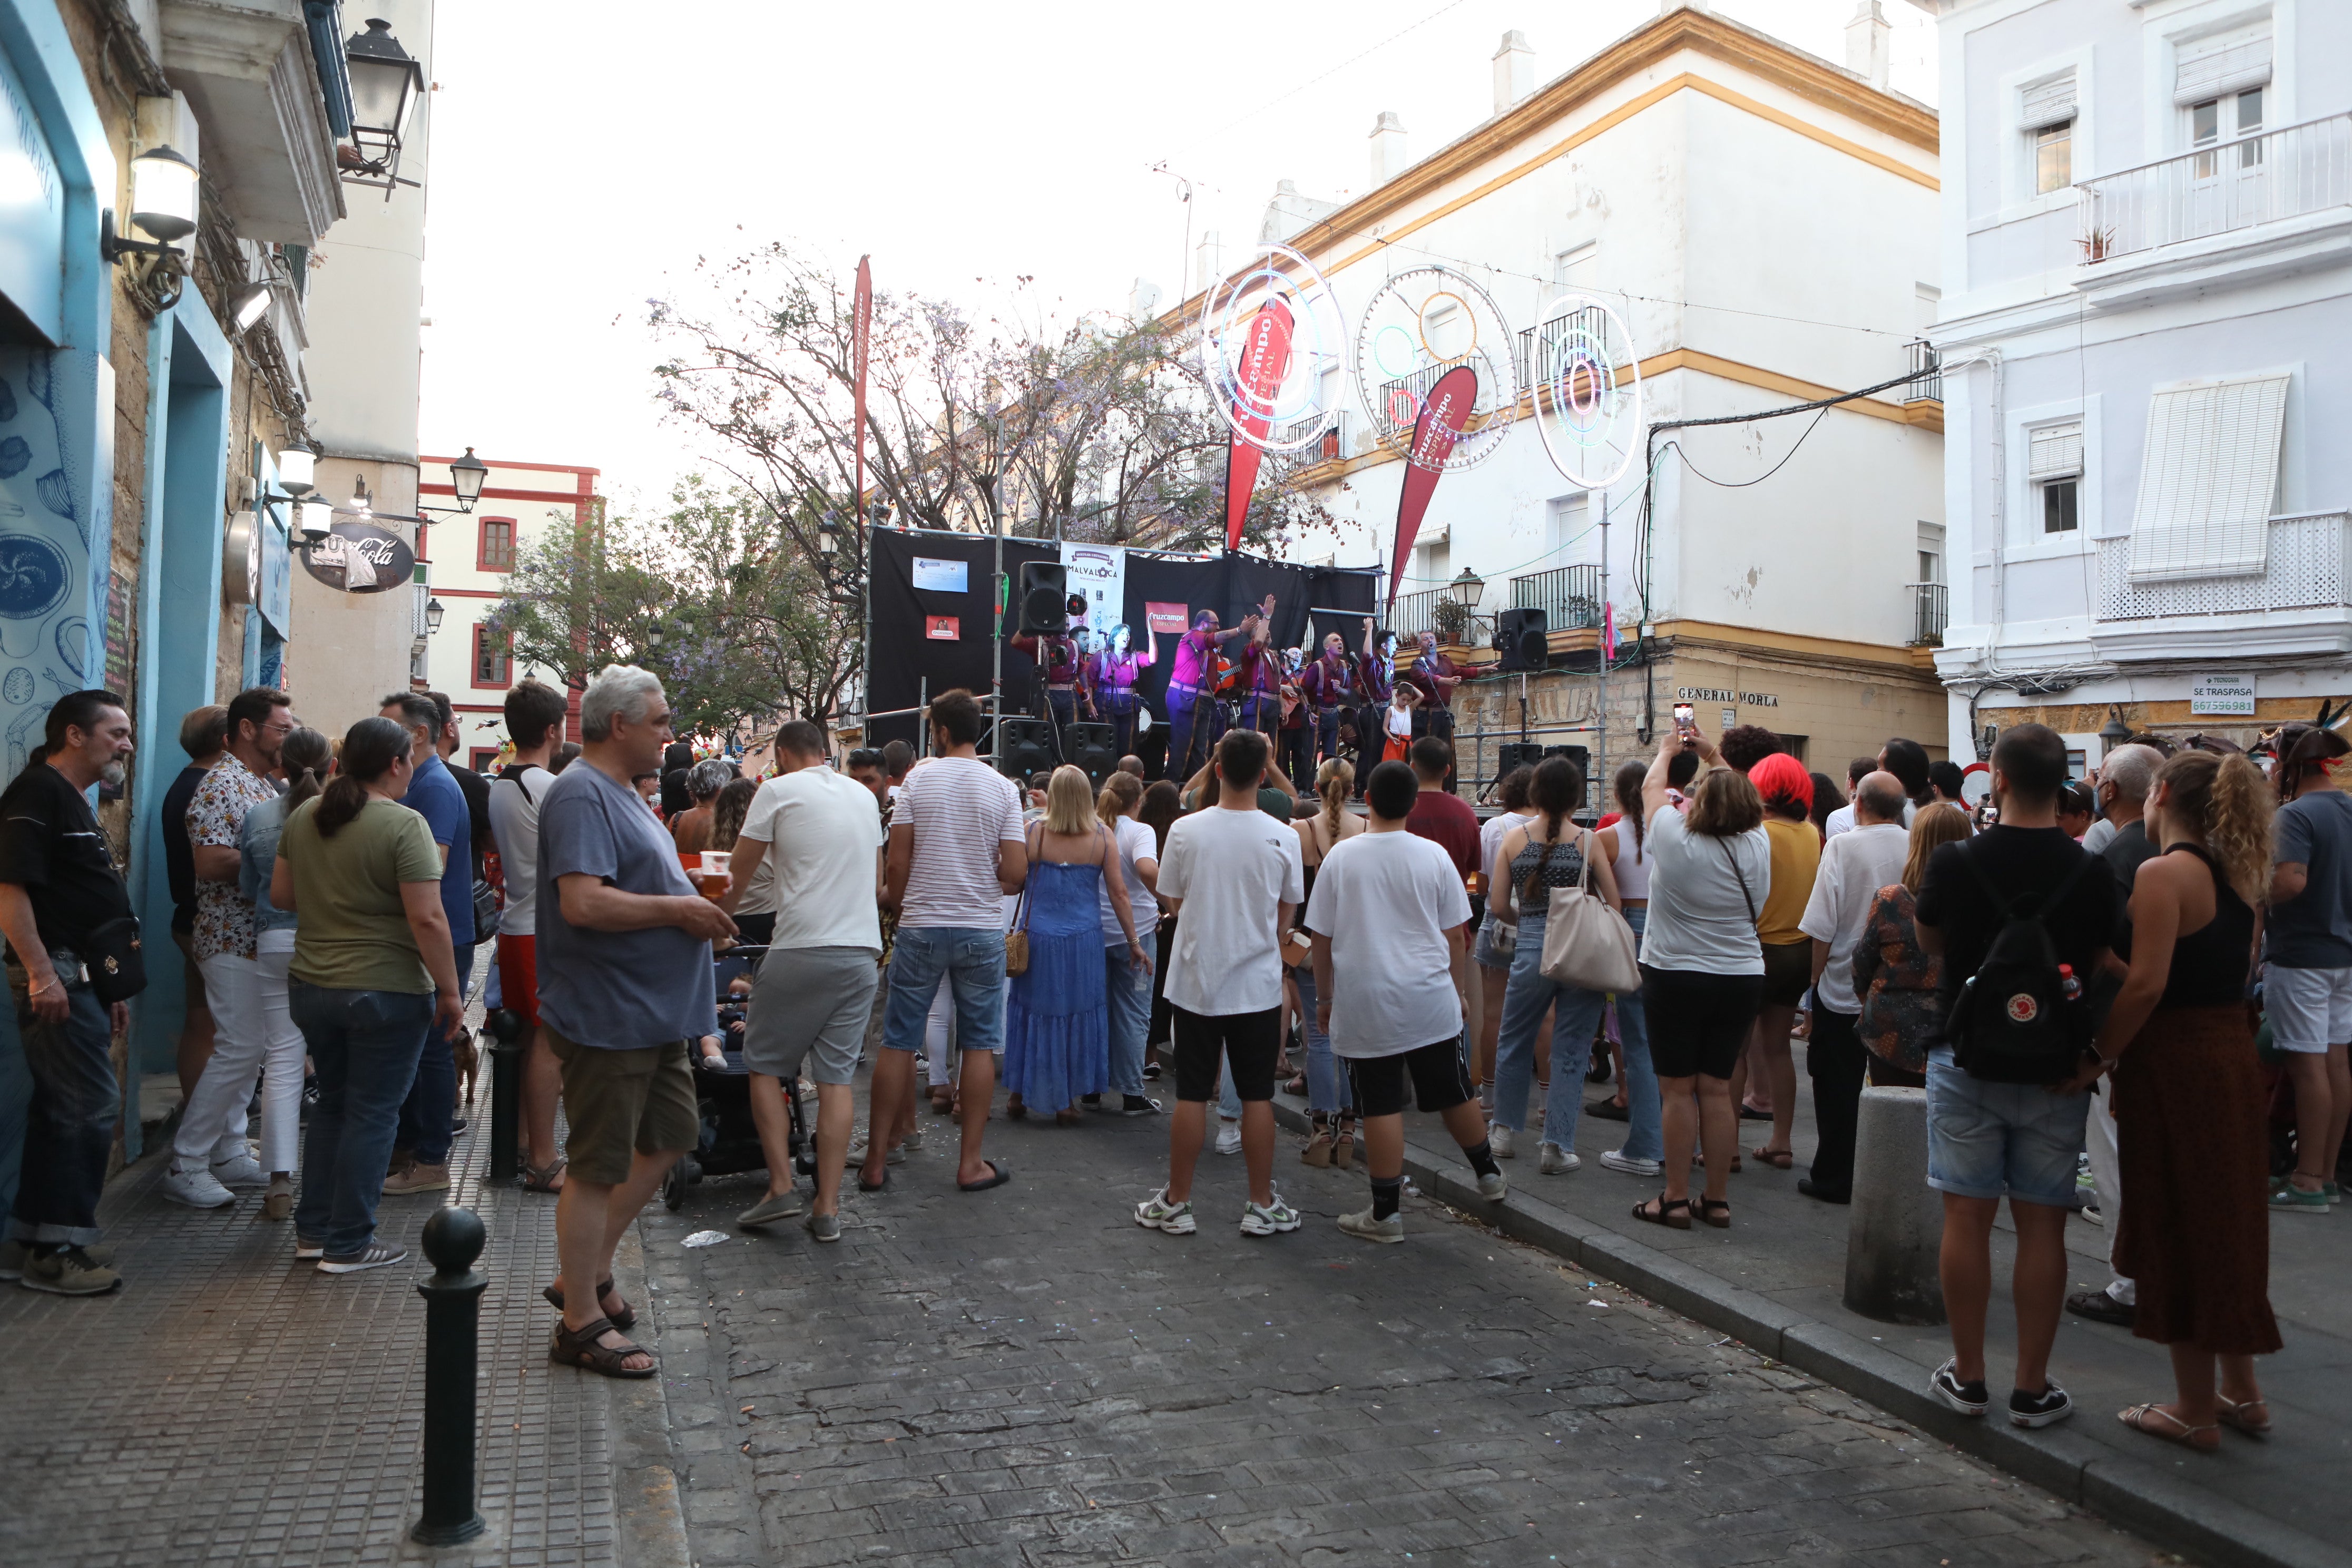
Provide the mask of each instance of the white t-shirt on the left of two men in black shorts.
POLYGON ((1225 806, 1176 818, 1167 856, 1160 858, 1160 891, 1183 898, 1174 950, 1167 954, 1171 1004, 1188 1013, 1263 1013, 1282 1006, 1275 922, 1279 905, 1303 903, 1308 896, 1296 832, 1263 811, 1225 806))

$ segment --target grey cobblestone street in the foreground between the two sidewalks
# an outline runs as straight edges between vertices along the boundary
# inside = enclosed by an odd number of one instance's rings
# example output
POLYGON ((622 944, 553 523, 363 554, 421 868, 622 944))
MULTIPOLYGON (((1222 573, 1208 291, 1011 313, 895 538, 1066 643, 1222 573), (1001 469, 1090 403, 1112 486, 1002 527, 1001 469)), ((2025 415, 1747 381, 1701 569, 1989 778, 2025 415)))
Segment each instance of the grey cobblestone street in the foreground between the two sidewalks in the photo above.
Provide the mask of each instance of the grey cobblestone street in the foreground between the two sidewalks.
POLYGON ((981 1197, 924 1133, 835 1248, 736 1232, 750 1180, 649 1213, 706 1568, 2171 1561, 1423 1199, 1404 1246, 1352 1241, 1362 1168, 1296 1138, 1305 1227, 1244 1239, 1240 1157, 1202 1159, 1200 1234, 1129 1220, 1157 1117, 997 1119, 1014 1182, 981 1197), (682 1248, 706 1227, 729 1241, 682 1248))

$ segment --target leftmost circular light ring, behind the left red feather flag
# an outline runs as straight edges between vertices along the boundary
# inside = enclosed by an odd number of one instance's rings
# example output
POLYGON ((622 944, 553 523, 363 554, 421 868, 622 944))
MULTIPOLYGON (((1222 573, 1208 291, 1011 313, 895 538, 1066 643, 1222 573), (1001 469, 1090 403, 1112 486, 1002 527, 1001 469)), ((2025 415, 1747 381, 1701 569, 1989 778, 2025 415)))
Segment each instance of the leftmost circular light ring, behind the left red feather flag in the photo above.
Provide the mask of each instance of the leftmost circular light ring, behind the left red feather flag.
POLYGON ((1348 324, 1312 261, 1287 244, 1258 247, 1244 270, 1209 284, 1200 320, 1209 400, 1235 435, 1261 451, 1301 451, 1322 440, 1336 411, 1324 404, 1324 369, 1341 362, 1348 324), (1291 310, 1291 360, 1282 386, 1258 395, 1242 378, 1242 357, 1249 353, 1249 324, 1275 301, 1291 310), (1249 418, 1263 418, 1265 433, 1251 430, 1249 418))

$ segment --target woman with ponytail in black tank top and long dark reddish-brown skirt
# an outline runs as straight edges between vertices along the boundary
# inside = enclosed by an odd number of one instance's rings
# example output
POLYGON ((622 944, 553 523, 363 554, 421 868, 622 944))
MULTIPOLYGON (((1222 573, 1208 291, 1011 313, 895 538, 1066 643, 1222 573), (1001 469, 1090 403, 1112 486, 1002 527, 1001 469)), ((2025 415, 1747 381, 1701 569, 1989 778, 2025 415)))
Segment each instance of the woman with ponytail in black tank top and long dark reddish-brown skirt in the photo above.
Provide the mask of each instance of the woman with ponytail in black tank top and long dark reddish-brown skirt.
POLYGON ((2173 1352, 2173 1403, 2122 1420, 2209 1453, 2223 1425, 2270 1432, 2253 1359, 2279 1349, 2267 1100, 2246 1023, 2272 809, 2244 755, 2180 752, 2157 773, 2147 837, 2161 853, 2131 884, 2131 973, 2074 1081, 2114 1072, 2114 1269, 2138 1286, 2131 1331, 2173 1352))

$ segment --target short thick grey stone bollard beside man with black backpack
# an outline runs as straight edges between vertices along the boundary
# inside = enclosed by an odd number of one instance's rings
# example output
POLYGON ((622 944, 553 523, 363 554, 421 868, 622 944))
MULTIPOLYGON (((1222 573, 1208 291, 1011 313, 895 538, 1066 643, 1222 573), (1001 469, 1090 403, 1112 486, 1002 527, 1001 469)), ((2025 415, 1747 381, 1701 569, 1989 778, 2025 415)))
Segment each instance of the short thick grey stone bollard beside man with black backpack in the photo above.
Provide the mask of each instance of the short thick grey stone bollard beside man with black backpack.
POLYGON ((1882 1324, 1943 1324, 1943 1197, 1926 1185, 1926 1091, 1865 1088, 1853 1138, 1846 1307, 1882 1324))

